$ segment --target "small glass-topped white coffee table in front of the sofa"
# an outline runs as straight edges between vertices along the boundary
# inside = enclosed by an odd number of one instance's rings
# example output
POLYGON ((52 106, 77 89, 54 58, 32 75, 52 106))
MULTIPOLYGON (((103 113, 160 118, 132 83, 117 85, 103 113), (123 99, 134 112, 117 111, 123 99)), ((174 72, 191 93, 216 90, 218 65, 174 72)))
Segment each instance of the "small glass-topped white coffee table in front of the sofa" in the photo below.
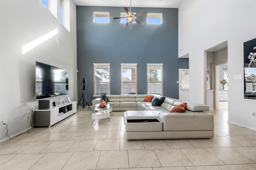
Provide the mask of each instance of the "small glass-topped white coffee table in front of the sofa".
POLYGON ((96 107, 91 107, 89 110, 93 111, 92 113, 92 124, 95 119, 105 119, 108 118, 110 121, 110 112, 112 115, 112 105, 114 104, 107 104, 107 107, 101 108, 98 107, 99 104, 96 105, 96 107))

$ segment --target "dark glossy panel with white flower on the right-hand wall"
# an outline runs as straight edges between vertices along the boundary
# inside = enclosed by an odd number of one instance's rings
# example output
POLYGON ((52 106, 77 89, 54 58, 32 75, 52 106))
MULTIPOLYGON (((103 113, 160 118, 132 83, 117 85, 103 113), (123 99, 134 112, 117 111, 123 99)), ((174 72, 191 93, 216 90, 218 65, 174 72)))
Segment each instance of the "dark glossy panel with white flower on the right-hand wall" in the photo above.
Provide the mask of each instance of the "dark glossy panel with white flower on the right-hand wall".
POLYGON ((244 42, 244 98, 256 99, 256 38, 244 42))

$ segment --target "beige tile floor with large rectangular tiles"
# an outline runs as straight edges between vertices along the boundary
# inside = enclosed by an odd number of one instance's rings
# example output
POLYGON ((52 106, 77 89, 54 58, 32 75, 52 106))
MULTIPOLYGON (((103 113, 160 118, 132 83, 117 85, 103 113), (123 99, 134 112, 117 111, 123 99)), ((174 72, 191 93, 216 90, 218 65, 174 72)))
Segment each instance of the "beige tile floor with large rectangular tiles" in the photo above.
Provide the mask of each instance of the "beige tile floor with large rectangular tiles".
POLYGON ((256 131, 214 114, 214 138, 125 139, 123 112, 94 121, 88 107, 0 143, 1 170, 255 170, 256 131))

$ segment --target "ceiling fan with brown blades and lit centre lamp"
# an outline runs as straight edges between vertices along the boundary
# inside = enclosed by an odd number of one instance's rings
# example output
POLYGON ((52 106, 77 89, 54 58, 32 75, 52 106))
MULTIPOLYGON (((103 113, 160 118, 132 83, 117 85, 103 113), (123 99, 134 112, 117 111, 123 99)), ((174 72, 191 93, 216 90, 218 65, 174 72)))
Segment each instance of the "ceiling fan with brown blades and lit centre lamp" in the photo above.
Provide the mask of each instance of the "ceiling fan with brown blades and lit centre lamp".
MULTIPOLYGON (((139 12, 138 14, 133 14, 132 12, 130 12, 131 11, 131 0, 130 0, 130 11, 129 11, 129 9, 127 7, 124 7, 124 10, 127 13, 126 17, 116 17, 116 18, 113 18, 113 19, 127 18, 124 27, 127 27, 128 24, 132 23, 134 20, 136 21, 136 23, 139 23, 140 25, 144 24, 144 22, 138 20, 136 17, 146 15, 147 12, 146 11, 142 11, 142 12, 139 12)), ((131 29, 131 24, 130 24, 130 29, 131 29)))

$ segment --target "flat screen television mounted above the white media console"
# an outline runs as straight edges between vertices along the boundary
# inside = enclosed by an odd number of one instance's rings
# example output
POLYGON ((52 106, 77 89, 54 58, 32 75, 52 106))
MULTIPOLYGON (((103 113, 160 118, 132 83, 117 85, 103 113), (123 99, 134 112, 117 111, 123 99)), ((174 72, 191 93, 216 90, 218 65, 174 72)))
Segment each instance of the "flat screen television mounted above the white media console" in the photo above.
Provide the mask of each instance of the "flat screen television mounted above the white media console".
POLYGON ((68 70, 36 61, 36 100, 68 95, 68 70))

